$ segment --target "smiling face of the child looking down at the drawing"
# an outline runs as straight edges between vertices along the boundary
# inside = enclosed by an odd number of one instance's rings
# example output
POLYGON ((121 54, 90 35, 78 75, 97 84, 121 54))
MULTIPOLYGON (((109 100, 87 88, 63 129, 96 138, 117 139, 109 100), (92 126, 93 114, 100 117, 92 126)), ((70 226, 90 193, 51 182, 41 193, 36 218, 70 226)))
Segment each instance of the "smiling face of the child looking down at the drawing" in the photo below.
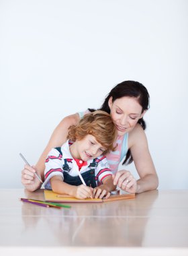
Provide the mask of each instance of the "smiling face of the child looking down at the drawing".
POLYGON ((86 135, 81 140, 75 141, 75 143, 77 145, 78 158, 83 161, 97 158, 106 150, 91 134, 86 135))

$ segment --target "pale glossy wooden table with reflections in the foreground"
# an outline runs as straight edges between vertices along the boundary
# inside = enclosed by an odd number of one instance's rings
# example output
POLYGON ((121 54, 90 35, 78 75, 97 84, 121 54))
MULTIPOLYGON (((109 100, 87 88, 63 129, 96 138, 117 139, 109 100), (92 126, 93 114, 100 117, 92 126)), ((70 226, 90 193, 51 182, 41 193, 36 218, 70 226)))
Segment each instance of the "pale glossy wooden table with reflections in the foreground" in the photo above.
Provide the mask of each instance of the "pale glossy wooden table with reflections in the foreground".
POLYGON ((69 203, 71 209, 60 210, 23 203, 19 197, 44 200, 44 191, 0 190, 0 253, 31 248, 66 255, 88 255, 91 249, 104 256, 118 251, 129 256, 188 255, 188 190, 149 191, 107 203, 69 203))

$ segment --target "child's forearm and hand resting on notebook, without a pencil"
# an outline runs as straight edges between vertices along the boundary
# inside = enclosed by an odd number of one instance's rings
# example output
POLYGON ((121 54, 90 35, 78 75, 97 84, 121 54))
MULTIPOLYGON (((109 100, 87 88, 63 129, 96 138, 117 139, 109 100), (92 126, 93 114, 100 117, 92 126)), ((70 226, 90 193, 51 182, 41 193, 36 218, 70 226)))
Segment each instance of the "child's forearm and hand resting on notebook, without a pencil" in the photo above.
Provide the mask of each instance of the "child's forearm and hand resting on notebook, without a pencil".
POLYGON ((93 189, 93 197, 95 198, 108 198, 110 196, 110 191, 115 190, 116 186, 113 185, 112 175, 106 177, 103 180, 103 185, 95 187, 93 189))

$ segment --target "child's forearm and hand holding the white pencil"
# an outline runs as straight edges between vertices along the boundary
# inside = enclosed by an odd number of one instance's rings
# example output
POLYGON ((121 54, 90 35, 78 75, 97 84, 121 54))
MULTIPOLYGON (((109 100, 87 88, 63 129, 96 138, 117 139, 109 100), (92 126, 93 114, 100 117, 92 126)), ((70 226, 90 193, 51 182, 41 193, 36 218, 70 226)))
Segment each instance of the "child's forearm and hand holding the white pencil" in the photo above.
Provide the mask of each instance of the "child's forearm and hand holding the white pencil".
POLYGON ((92 196, 92 188, 85 185, 73 186, 62 181, 62 177, 54 176, 50 179, 52 191, 59 194, 72 195, 78 199, 86 199, 92 196))

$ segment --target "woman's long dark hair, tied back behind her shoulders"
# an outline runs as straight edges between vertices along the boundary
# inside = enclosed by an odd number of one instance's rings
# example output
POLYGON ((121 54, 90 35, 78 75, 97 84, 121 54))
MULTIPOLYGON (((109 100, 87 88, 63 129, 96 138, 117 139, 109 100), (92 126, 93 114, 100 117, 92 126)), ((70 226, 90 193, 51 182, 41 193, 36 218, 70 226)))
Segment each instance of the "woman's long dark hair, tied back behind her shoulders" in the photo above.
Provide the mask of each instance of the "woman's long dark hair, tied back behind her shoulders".
MULTIPOLYGON (((109 98, 112 97, 112 102, 117 100, 118 98, 122 97, 131 97, 136 98, 138 100, 138 103, 140 106, 142 106, 142 113, 144 110, 147 110, 149 108, 150 104, 150 96, 148 94, 148 90, 143 86, 143 84, 140 84, 139 82, 135 81, 124 81, 114 88, 111 89, 107 97, 105 98, 105 101, 103 102, 101 108, 99 110, 103 110, 107 113, 110 113, 108 101, 109 98)), ((93 112, 94 109, 88 108, 89 111, 93 112)), ((138 120, 138 123, 142 126, 142 128, 146 129, 146 123, 143 118, 138 120)), ((128 150, 126 154, 126 159, 124 160, 123 164, 130 164, 132 162, 132 154, 130 150, 128 150)))

